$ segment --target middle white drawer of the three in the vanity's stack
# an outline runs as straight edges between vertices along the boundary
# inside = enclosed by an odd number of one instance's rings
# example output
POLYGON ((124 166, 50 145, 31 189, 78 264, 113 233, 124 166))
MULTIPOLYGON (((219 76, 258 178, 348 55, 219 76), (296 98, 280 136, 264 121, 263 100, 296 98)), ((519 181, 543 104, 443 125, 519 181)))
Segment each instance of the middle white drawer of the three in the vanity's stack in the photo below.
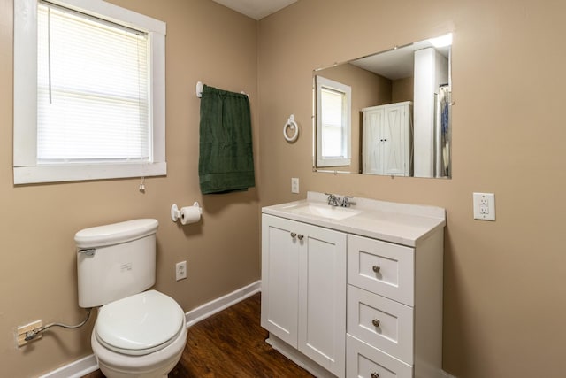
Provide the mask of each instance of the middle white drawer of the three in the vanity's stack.
POLYGON ((413 364, 413 308, 348 285, 347 332, 413 364))

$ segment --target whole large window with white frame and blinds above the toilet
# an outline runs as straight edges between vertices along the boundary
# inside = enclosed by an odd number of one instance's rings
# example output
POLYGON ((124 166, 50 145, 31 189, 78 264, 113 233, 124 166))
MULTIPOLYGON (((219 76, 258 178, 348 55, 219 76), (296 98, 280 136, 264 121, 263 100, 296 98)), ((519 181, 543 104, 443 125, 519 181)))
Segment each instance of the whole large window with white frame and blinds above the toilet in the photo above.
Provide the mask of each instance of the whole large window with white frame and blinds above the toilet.
POLYGON ((166 174, 164 22, 99 0, 14 6, 14 183, 166 174))

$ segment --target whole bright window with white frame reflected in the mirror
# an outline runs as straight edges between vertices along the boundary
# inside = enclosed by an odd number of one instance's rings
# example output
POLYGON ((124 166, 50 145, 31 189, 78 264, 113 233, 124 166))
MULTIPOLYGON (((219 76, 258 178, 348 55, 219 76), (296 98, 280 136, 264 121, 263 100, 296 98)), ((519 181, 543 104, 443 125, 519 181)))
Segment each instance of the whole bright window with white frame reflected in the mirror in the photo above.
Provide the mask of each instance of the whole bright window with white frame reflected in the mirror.
POLYGON ((322 76, 317 83, 317 166, 349 166, 352 89, 322 76))

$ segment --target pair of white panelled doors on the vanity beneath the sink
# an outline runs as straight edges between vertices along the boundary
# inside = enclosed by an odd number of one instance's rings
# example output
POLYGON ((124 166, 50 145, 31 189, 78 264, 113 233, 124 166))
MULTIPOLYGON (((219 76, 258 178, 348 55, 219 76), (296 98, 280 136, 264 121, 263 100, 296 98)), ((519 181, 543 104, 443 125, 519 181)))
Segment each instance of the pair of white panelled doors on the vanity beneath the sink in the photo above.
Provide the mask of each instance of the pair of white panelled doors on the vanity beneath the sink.
POLYGON ((346 243, 342 232, 262 216, 261 325, 279 351, 286 354, 283 341, 339 377, 346 359, 346 243))

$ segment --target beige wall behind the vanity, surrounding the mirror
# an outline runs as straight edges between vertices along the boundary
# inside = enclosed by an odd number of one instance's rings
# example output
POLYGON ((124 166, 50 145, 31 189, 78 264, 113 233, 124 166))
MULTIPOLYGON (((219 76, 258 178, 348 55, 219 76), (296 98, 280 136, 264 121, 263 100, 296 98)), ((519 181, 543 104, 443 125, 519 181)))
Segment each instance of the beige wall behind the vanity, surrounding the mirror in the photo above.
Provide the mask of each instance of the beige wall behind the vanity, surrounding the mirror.
POLYGON ((444 369, 459 378, 564 374, 565 12, 538 0, 299 0, 259 23, 261 203, 316 190, 445 207, 444 369), (447 31, 453 179, 312 173, 311 70, 447 31), (292 144, 280 136, 291 113, 292 144), (495 222, 472 220, 474 191, 495 193, 495 222))

